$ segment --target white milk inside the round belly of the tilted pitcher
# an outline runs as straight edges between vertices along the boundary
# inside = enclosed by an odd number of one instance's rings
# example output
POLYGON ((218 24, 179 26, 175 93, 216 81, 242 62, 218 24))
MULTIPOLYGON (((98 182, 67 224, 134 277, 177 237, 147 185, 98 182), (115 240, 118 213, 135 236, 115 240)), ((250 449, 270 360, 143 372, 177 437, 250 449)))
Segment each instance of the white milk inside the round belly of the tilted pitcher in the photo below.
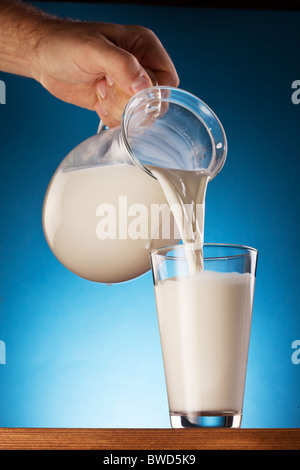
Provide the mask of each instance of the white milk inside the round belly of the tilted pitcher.
POLYGON ((43 226, 64 266, 107 284, 147 272, 150 251, 178 241, 159 183, 128 164, 59 170, 45 197, 43 226))

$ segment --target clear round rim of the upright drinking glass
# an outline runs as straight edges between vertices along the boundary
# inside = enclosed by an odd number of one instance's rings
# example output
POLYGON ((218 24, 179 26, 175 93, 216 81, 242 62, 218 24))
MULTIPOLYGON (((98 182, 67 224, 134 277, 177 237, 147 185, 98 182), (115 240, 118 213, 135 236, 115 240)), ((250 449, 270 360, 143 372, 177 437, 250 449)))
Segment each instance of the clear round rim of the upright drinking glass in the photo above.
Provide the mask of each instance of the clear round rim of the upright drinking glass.
MULTIPOLYGON (((183 244, 183 243, 177 243, 176 245, 169 245, 169 246, 163 246, 161 248, 155 248, 154 250, 150 251, 150 256, 153 257, 153 255, 159 255, 160 251, 166 250, 166 251, 175 251, 178 249, 192 249, 195 248, 196 250, 200 250, 203 247, 216 247, 216 248, 231 248, 231 249, 236 249, 236 250, 245 250, 245 253, 239 253, 239 254, 231 254, 231 255, 222 255, 222 256, 204 256, 203 260, 208 261, 208 260, 218 260, 218 259, 232 259, 232 258, 239 258, 243 256, 249 256, 251 253, 254 253, 256 256, 258 255, 258 250, 256 248, 253 248, 248 245, 239 245, 235 243, 202 243, 202 244, 197 244, 197 243, 188 243, 188 244, 183 244)), ((175 256, 168 256, 167 254, 162 254, 161 256, 164 256, 165 259, 179 259, 176 258, 175 256)), ((184 258, 182 258, 184 259, 184 258)))

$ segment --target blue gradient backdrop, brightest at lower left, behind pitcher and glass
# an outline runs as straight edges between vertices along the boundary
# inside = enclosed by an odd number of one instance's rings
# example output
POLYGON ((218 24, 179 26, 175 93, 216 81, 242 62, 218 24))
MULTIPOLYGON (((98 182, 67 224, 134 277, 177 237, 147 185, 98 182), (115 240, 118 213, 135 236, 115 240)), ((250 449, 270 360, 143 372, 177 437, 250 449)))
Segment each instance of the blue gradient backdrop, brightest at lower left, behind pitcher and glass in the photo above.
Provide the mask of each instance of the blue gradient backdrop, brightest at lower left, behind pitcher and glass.
MULTIPOLYGON (((221 119, 229 152, 209 184, 207 242, 259 250, 243 427, 299 427, 300 12, 36 3, 62 16, 142 24, 180 87, 221 119)), ((2 427, 169 427, 150 273, 80 279, 53 256, 41 213, 58 164, 98 127, 95 113, 1 73, 2 427)))

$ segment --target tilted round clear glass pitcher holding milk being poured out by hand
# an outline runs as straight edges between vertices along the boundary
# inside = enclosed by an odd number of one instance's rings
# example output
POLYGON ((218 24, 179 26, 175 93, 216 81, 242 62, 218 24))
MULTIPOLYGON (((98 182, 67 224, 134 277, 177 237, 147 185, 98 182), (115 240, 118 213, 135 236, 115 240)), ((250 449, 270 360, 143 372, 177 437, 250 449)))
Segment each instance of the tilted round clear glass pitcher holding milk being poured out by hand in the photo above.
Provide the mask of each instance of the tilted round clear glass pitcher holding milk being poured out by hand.
POLYGON ((213 111, 196 96, 154 86, 134 95, 121 125, 98 132, 62 161, 48 186, 43 229, 57 259, 90 281, 113 284, 150 270, 150 251, 178 243, 151 167, 213 179, 227 143, 213 111))

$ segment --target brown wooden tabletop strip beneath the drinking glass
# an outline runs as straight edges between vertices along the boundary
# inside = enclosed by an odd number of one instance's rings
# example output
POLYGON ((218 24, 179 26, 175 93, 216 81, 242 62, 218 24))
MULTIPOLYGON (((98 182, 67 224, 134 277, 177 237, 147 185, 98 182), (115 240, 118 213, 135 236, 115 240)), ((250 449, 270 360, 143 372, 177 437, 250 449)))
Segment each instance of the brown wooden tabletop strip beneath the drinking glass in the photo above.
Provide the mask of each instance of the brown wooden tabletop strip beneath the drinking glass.
POLYGON ((300 450, 300 429, 0 428, 0 450, 300 450))

